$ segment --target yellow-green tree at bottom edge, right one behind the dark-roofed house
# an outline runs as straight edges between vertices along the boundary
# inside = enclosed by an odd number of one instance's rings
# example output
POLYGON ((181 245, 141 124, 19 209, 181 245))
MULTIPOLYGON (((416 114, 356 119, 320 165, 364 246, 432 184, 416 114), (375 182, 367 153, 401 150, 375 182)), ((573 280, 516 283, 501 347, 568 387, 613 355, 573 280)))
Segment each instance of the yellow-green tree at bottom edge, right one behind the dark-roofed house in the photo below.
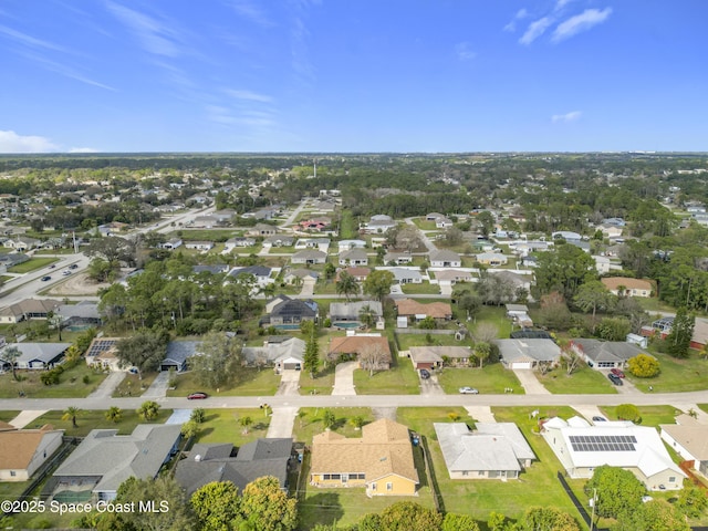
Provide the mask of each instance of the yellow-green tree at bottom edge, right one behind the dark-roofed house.
POLYGON ((272 476, 246 486, 241 512, 258 531, 292 531, 298 525, 298 500, 289 498, 272 476))

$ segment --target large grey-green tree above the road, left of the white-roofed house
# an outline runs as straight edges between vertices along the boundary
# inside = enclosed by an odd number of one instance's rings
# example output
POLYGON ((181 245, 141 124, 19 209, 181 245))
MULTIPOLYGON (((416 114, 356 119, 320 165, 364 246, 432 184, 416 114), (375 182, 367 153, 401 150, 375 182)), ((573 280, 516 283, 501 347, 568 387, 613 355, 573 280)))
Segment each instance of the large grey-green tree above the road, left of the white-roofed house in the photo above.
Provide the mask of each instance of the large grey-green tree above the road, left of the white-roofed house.
POLYGON ((219 388, 233 383, 240 374, 241 345, 223 332, 206 333, 197 353, 187 360, 187 365, 200 385, 219 388))

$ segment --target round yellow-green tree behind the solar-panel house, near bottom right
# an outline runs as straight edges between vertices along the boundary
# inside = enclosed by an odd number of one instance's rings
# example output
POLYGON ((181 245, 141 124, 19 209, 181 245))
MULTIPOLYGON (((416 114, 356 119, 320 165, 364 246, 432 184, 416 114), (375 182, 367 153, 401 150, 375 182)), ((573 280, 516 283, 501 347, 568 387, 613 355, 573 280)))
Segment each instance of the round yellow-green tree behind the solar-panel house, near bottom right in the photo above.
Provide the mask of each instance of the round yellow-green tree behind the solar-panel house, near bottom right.
POLYGON ((595 512, 601 517, 616 518, 629 513, 642 504, 644 485, 628 470, 603 465, 595 468, 585 483, 585 493, 595 493, 595 512))

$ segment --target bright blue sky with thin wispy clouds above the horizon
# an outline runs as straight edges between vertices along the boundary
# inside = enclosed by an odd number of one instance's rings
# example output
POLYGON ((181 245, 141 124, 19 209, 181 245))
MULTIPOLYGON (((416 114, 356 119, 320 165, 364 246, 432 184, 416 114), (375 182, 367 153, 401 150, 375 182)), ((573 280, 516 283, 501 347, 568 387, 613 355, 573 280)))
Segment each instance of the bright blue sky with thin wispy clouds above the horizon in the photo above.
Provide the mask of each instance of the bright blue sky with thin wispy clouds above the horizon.
POLYGON ((708 150, 704 0, 3 0, 0 153, 708 150))

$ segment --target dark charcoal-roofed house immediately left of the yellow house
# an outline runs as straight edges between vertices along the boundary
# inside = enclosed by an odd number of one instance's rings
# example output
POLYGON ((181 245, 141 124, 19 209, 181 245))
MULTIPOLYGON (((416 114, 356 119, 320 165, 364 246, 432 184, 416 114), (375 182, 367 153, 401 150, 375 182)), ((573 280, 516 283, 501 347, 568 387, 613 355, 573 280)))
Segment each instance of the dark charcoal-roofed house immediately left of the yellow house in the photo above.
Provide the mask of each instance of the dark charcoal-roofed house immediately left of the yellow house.
POLYGON ((230 481, 242 492, 258 478, 278 478, 280 488, 288 488, 288 465, 293 458, 291 438, 261 438, 238 449, 231 442, 192 446, 187 458, 179 461, 175 480, 191 496, 214 481, 230 481))

